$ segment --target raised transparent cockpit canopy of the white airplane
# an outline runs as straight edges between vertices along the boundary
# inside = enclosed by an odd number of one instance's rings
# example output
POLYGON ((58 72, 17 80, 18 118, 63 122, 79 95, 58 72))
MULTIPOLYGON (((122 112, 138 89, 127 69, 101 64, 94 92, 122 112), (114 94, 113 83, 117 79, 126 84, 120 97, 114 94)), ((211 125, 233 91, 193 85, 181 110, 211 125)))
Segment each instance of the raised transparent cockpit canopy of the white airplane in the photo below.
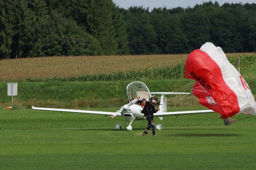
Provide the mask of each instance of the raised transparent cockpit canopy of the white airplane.
POLYGON ((142 98, 145 98, 146 101, 148 101, 151 98, 151 93, 148 87, 140 82, 140 81, 133 81, 126 87, 127 95, 128 95, 128 101, 131 102, 133 99, 140 97, 140 100, 142 98))

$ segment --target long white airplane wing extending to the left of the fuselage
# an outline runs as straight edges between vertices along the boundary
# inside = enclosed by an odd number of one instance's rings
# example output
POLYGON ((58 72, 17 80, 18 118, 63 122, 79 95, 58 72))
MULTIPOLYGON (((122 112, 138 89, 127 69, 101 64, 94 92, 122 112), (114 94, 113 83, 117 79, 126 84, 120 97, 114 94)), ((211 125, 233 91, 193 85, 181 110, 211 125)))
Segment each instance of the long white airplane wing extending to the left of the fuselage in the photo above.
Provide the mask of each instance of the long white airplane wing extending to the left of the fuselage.
MULTIPOLYGON (((92 111, 92 110, 73 110, 73 109, 54 109, 54 108, 44 108, 32 106, 34 110, 46 110, 46 111, 60 111, 60 112, 73 112, 73 113, 87 113, 87 114, 97 114, 97 115, 113 115, 115 112, 107 111, 92 111)), ((119 113, 117 116, 121 116, 119 113)))

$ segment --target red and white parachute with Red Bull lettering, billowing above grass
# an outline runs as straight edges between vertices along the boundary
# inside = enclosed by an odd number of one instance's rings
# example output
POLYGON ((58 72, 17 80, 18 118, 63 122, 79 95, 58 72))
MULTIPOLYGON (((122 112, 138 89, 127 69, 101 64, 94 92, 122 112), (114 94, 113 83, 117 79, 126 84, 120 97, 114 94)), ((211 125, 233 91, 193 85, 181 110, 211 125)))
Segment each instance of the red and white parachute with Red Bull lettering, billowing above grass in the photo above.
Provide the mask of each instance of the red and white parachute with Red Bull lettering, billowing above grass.
POLYGON ((221 47, 205 43, 192 51, 186 60, 185 78, 196 81, 192 93, 199 103, 221 114, 222 119, 239 113, 256 115, 249 86, 221 47))

